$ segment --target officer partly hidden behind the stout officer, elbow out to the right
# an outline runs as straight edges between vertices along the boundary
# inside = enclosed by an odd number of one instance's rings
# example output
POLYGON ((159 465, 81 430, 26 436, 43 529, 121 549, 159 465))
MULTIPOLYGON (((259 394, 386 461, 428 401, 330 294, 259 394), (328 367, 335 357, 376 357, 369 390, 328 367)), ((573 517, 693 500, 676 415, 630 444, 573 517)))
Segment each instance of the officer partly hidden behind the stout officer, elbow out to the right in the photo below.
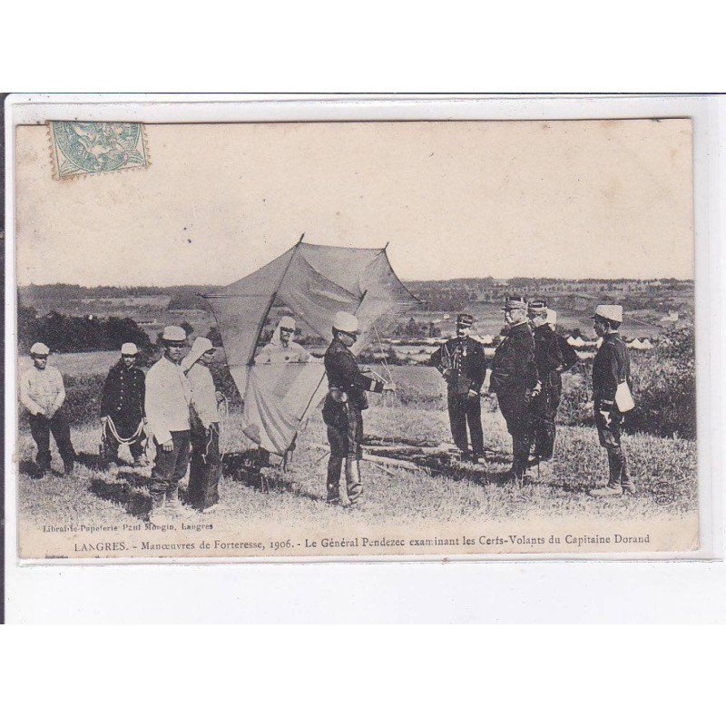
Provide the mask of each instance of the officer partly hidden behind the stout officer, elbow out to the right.
POLYGON ((554 453, 556 429, 554 418, 562 397, 562 373, 577 362, 577 354, 566 340, 560 338, 551 327, 552 317, 545 300, 529 303, 529 319, 535 338, 535 365, 537 385, 532 399, 532 427, 535 438, 535 464, 549 461, 554 453), (562 346, 570 348, 574 355, 565 362, 562 346))

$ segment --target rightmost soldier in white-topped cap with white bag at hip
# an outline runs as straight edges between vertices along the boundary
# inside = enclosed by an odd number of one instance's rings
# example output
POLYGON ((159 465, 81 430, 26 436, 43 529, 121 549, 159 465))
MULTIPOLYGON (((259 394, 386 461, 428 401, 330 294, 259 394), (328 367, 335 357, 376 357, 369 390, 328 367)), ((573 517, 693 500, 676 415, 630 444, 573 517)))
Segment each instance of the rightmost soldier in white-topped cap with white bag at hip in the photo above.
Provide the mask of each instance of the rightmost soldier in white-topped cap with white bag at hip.
POLYGON ((594 331, 603 343, 593 360, 593 400, 595 425, 600 446, 607 451, 610 470, 604 486, 591 489, 593 496, 622 495, 623 491, 635 493, 628 464, 620 444, 623 414, 615 403, 618 385, 627 382, 631 388, 630 358, 625 342, 617 332, 623 322, 622 305, 598 305, 595 309, 594 331))

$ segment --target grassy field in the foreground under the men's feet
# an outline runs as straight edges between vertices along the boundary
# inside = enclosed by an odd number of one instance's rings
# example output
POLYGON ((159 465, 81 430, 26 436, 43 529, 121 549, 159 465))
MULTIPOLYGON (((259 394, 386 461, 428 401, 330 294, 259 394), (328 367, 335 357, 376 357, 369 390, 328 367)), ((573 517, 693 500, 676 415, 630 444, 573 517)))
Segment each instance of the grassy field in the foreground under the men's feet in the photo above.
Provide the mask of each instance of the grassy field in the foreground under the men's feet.
MULTIPOLYGON (((444 388, 437 372, 428 368, 395 368, 397 397, 372 397, 366 412, 366 434, 388 441, 437 446, 450 441, 444 388)), ((465 465, 431 457, 422 472, 381 467, 364 461, 361 471, 366 505, 350 512, 325 504, 326 437, 316 413, 299 437, 287 472, 265 470, 269 491, 250 486, 234 462, 244 449, 240 415, 225 422, 222 446, 225 475, 221 480, 221 510, 211 515, 191 514, 191 525, 211 523, 218 529, 280 523, 306 526, 316 532, 357 532, 366 527, 395 525, 449 526, 461 523, 525 525, 545 520, 596 525, 598 522, 679 522, 697 511, 696 444, 693 441, 644 435, 624 437, 633 476, 640 486, 635 496, 597 500, 587 489, 607 476, 606 459, 594 429, 561 427, 556 444, 553 476, 535 479, 534 486, 504 482, 511 465, 511 443, 504 420, 491 399, 485 400, 486 466, 465 465), (565 486, 572 491, 565 491, 565 486), (663 487, 672 496, 662 501, 663 487)), ((149 509, 150 470, 122 467, 116 474, 97 467, 98 427, 73 431, 81 463, 73 476, 28 476, 34 445, 26 432, 19 442, 19 512, 21 530, 37 529, 48 521, 84 525, 132 527, 149 509)), ((59 470, 57 457, 54 466, 59 470)), ((676 526, 676 525, 674 525, 676 526)), ((308 553, 309 554, 309 553, 308 553)))

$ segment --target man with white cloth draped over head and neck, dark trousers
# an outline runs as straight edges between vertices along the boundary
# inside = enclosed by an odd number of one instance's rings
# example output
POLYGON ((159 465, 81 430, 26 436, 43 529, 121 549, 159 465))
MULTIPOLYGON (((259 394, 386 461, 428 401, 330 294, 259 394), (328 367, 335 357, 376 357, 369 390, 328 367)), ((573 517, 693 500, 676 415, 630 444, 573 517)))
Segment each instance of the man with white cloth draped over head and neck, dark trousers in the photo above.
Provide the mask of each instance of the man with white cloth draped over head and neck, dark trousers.
POLYGON ((209 338, 196 338, 190 354, 182 360, 191 384, 191 465, 189 501, 209 513, 220 501, 220 411, 224 395, 211 378, 210 365, 216 348, 209 338))

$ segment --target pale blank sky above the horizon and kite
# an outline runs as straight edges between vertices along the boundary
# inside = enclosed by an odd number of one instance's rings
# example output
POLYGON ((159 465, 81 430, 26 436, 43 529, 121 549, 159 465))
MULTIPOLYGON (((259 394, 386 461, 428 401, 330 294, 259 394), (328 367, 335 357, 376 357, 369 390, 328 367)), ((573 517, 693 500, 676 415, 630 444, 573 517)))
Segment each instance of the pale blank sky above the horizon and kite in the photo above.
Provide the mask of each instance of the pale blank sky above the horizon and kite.
POLYGON ((16 129, 20 285, 227 284, 307 242, 403 280, 693 277, 686 119, 145 127, 145 170, 54 181, 16 129))

